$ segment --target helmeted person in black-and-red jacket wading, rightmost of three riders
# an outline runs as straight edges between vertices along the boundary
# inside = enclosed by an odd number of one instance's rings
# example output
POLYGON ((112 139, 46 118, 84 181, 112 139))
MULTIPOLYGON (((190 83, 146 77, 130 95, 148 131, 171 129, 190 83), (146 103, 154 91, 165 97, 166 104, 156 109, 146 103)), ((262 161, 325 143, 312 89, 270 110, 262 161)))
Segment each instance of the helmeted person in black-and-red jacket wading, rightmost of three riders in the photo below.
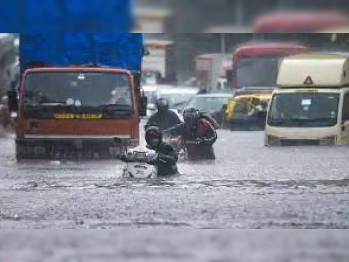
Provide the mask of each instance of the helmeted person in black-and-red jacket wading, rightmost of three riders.
POLYGON ((214 160, 213 144, 217 141, 215 128, 204 118, 199 110, 187 107, 183 111, 184 123, 164 130, 164 134, 181 136, 186 144, 189 160, 214 160))

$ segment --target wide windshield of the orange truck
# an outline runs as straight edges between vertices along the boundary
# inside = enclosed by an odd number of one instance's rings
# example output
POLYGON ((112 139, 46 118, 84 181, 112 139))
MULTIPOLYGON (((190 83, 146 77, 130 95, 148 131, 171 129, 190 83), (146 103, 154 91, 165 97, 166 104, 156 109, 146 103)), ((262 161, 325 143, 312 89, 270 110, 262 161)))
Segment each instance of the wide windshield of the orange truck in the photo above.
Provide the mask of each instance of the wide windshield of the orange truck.
POLYGON ((131 83, 124 73, 30 73, 24 88, 25 107, 132 107, 131 83))

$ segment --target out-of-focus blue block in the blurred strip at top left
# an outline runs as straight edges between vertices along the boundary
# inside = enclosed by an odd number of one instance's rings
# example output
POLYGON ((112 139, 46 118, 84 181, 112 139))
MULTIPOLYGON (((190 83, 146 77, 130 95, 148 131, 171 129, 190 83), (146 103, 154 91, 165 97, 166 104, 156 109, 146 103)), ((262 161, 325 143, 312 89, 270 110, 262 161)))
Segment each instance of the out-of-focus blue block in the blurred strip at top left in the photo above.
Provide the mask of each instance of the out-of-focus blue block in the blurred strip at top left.
POLYGON ((132 30, 131 0, 1 0, 2 32, 132 30))

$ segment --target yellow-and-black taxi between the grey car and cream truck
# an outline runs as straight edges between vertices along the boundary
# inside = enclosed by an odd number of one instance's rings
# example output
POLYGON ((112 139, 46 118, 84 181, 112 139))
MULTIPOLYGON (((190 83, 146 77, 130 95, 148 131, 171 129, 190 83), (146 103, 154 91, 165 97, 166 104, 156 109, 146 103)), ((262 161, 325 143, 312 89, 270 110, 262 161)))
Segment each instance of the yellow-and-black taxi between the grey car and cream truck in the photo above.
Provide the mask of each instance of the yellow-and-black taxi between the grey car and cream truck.
POLYGON ((228 100, 225 121, 231 130, 261 130, 265 126, 267 108, 257 114, 250 114, 261 103, 269 103, 274 87, 245 88, 238 90, 228 100))

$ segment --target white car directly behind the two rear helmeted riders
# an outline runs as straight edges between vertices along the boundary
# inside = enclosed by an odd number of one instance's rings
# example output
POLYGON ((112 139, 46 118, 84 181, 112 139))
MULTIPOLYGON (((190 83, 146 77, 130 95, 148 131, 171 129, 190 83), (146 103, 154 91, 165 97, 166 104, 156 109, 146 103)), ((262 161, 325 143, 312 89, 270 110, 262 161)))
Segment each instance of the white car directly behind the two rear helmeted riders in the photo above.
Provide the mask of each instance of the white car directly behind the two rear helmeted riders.
POLYGON ((181 86, 159 86, 156 90, 156 99, 165 98, 169 101, 170 109, 181 114, 190 100, 200 91, 196 87, 181 87, 181 86))

